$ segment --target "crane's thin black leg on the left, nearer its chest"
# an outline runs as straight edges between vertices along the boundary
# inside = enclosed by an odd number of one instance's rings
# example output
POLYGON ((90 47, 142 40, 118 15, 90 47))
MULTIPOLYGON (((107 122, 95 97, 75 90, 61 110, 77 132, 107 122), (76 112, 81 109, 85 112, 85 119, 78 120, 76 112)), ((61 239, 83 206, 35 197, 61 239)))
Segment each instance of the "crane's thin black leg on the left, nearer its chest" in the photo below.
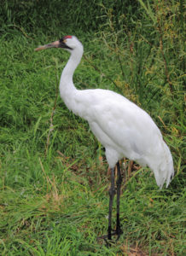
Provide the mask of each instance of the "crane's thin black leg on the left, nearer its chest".
POLYGON ((113 210, 113 196, 115 194, 115 186, 114 186, 114 179, 115 179, 115 168, 111 169, 111 187, 109 189, 109 213, 108 213, 108 239, 112 239, 111 234, 111 222, 112 222, 112 210, 113 210))

